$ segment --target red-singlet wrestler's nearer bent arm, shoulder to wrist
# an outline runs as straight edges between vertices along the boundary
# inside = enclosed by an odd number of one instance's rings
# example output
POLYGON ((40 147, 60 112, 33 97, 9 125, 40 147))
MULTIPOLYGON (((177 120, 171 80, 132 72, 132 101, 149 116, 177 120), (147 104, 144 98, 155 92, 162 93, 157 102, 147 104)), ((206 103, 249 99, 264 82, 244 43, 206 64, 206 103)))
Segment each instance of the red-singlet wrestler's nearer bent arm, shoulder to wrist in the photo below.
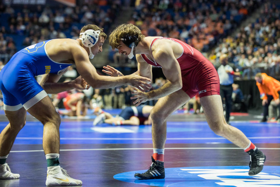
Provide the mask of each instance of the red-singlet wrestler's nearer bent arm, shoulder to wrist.
POLYGON ((162 66, 162 72, 166 79, 169 82, 162 85, 160 88, 156 90, 152 90, 148 92, 148 99, 158 99, 164 96, 169 95, 179 89, 182 88, 182 77, 181 77, 181 68, 176 60, 173 50, 170 46, 165 46, 164 48, 159 46, 160 43, 155 47, 155 51, 153 52, 153 56, 155 61, 162 66))

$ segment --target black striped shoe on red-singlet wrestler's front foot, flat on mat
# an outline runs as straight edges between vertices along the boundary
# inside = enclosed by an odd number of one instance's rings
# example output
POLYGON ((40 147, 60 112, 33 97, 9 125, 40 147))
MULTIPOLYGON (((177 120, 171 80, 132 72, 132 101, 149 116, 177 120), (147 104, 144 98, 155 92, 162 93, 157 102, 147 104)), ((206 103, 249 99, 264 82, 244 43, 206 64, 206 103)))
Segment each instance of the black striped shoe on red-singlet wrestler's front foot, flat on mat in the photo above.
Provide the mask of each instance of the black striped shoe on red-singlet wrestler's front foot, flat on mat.
POLYGON ((136 179, 164 179, 165 172, 163 162, 156 162, 152 156, 152 165, 145 173, 136 173, 134 177, 136 179))

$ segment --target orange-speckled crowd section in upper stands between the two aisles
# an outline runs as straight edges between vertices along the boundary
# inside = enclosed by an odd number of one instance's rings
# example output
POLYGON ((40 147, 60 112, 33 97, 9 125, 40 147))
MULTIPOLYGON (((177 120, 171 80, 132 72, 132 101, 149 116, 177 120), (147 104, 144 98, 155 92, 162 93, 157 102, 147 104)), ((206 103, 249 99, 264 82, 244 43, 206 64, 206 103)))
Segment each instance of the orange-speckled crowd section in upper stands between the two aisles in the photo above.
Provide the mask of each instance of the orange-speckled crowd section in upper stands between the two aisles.
POLYGON ((206 52, 251 14, 259 0, 137 0, 129 20, 145 36, 176 38, 206 52))

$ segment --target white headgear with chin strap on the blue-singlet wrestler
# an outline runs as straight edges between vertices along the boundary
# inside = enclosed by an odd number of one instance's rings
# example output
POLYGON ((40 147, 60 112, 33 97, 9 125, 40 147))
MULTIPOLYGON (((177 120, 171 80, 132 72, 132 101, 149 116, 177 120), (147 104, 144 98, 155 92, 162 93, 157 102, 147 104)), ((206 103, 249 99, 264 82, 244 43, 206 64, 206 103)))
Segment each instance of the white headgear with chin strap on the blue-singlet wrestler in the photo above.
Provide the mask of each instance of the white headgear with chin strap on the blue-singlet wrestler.
POLYGON ((88 47, 90 50, 90 55, 88 56, 90 59, 94 58, 94 54, 91 52, 91 47, 93 47, 99 38, 100 30, 86 30, 85 32, 81 32, 80 35, 82 34, 82 37, 80 38, 83 42, 83 45, 88 47))

